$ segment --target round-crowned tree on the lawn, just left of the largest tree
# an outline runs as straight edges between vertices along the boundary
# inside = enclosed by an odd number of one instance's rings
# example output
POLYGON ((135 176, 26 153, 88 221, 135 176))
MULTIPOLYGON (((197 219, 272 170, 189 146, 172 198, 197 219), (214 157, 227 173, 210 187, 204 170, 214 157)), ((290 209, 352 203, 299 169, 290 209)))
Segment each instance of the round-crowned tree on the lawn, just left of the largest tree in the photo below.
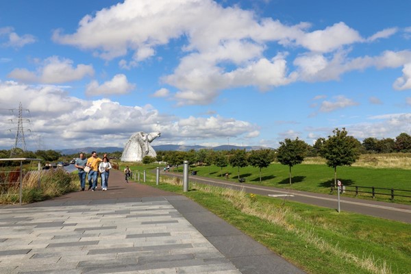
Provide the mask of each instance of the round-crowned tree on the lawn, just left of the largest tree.
POLYGON ((284 142, 279 142, 279 148, 277 149, 277 160, 281 164, 288 165, 290 168, 289 177, 291 182, 291 168, 296 164, 301 164, 308 152, 308 145, 303 140, 290 140, 286 138, 284 142))

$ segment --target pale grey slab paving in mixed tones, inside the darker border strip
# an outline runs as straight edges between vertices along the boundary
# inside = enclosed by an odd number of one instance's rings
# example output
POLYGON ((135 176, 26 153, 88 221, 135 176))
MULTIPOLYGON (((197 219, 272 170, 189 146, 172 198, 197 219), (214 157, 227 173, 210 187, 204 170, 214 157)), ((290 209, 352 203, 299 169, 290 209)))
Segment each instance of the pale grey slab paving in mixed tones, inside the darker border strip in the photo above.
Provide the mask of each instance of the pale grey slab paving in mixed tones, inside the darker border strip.
POLYGON ((166 199, 0 209, 0 273, 240 273, 166 199))

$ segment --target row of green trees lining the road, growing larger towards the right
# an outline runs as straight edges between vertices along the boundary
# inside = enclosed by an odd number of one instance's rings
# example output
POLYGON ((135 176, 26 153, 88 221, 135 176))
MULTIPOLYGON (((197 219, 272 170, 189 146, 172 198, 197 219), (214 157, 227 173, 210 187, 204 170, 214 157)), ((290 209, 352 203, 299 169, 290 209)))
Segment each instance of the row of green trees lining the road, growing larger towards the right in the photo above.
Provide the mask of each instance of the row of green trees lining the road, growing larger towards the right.
MULTIPOLYGON (((238 179, 240 179, 240 168, 245 166, 254 166, 260 169, 266 168, 271 162, 277 162, 289 166, 290 184, 292 183, 292 166, 301 164, 304 158, 310 154, 312 147, 303 140, 296 138, 291 140, 286 138, 279 142, 279 147, 273 149, 261 149, 257 151, 245 151, 242 149, 233 149, 231 151, 213 151, 201 149, 199 151, 158 151, 157 158, 151 158, 147 162, 165 161, 171 166, 178 166, 187 160, 190 164, 201 164, 210 166, 214 164, 223 168, 230 164, 238 168, 238 179)), ((334 185, 336 185, 337 166, 351 165, 360 157, 362 144, 353 136, 348 136, 347 130, 334 129, 333 135, 321 141, 318 153, 325 158, 327 166, 334 169, 334 185)), ((145 159, 146 160, 146 159, 145 159)))

